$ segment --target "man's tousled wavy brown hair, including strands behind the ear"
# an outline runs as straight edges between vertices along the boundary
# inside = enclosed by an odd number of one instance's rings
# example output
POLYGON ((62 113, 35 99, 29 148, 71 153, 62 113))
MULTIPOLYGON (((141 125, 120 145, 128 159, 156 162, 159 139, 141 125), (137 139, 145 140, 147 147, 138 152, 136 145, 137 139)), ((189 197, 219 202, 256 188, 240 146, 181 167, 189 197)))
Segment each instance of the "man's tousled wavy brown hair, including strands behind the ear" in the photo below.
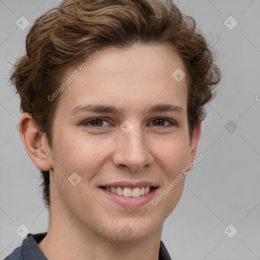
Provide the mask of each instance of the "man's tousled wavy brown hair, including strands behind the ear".
MULTIPOLYGON (((40 16, 26 38, 10 80, 21 98, 20 110, 32 115, 52 147, 52 123, 59 97, 47 96, 60 84, 64 69, 102 47, 170 44, 187 71, 189 137, 206 117, 205 105, 221 78, 205 37, 196 22, 171 0, 64 0, 40 16)), ((60 95, 59 95, 60 96, 60 95)), ((41 171, 43 200, 49 210, 49 171, 41 171)))

